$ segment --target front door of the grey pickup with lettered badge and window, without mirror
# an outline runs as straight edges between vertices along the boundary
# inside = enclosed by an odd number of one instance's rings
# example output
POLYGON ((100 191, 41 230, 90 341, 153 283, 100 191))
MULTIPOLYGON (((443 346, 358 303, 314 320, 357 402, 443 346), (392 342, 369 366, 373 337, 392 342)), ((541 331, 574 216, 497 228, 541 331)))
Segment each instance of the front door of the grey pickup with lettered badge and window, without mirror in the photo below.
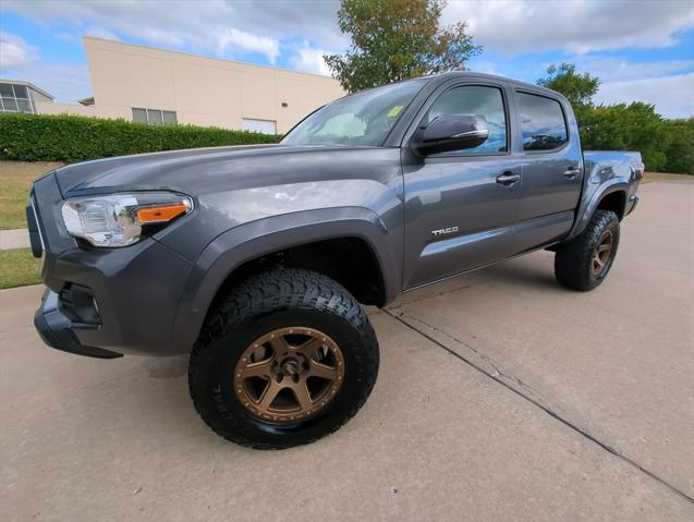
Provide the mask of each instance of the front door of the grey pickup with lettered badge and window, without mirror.
POLYGON ((513 250, 522 158, 511 154, 506 89, 454 83, 433 98, 419 125, 442 114, 483 116, 489 137, 425 158, 403 150, 404 289, 501 260, 513 250))

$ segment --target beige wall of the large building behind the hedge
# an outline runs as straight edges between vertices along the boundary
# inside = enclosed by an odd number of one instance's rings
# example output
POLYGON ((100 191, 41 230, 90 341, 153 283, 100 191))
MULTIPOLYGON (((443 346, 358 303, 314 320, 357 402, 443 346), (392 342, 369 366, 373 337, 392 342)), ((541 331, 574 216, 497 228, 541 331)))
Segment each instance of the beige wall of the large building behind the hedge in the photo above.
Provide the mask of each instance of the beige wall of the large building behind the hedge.
POLYGON ((244 119, 268 120, 285 133, 344 95, 336 80, 316 74, 100 38, 84 37, 84 45, 95 105, 40 104, 39 112, 132 120, 133 108, 159 109, 175 111, 179 123, 243 129, 244 119))

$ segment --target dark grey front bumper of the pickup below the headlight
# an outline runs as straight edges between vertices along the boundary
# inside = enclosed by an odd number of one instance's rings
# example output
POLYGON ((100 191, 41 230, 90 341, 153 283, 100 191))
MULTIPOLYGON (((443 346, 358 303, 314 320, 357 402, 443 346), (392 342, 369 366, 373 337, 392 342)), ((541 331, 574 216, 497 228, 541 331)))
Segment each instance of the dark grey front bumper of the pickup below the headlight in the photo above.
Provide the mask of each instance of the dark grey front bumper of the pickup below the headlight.
POLYGON ((196 331, 173 335, 192 263, 153 238, 122 248, 77 245, 62 224, 52 175, 34 183, 29 230, 49 291, 34 324, 59 350, 102 359, 190 352, 196 331))

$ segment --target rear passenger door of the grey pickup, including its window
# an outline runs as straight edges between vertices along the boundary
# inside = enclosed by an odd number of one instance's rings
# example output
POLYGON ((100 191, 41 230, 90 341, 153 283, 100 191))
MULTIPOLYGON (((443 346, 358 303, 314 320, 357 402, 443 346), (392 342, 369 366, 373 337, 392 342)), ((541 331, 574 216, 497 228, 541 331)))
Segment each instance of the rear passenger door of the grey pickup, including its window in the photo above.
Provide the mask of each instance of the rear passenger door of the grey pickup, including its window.
POLYGON ((567 234, 583 184, 583 156, 571 108, 558 98, 514 90, 523 183, 513 253, 567 234))

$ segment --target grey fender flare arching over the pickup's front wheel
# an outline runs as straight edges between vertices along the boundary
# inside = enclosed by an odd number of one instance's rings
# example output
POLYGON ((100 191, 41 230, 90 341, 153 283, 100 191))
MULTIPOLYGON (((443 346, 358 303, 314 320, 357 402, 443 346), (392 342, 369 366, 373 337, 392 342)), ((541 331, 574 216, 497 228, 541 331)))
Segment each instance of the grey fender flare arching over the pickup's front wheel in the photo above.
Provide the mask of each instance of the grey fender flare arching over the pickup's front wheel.
POLYGON ((195 262, 179 303, 172 338, 192 347, 210 304, 227 278, 243 264, 283 248, 334 238, 365 241, 376 257, 385 301, 400 292, 402 230, 389 230, 368 208, 339 207, 306 210, 251 221, 218 235, 195 262))

